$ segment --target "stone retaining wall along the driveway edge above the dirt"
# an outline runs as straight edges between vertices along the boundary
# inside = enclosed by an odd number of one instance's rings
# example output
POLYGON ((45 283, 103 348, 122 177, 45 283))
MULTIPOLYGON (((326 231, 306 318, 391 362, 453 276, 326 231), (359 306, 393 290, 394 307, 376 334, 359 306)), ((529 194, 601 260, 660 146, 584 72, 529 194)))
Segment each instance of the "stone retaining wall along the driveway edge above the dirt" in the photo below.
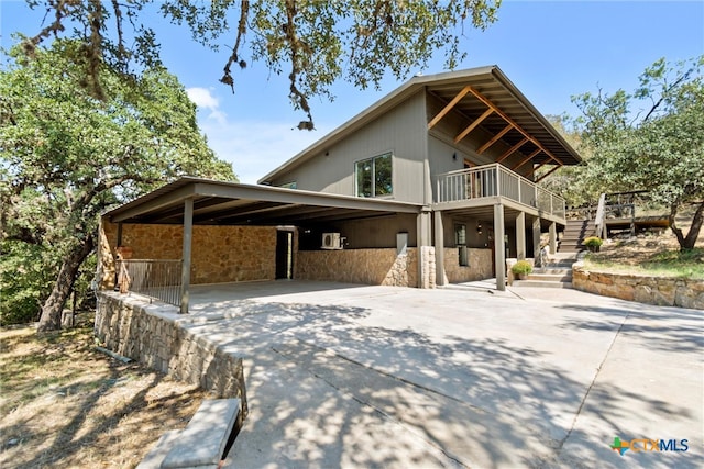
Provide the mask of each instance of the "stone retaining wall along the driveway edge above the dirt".
POLYGON ((98 292, 96 336, 105 346, 217 398, 239 398, 246 415, 242 358, 191 334, 194 320, 175 306, 148 304, 140 297, 98 292))

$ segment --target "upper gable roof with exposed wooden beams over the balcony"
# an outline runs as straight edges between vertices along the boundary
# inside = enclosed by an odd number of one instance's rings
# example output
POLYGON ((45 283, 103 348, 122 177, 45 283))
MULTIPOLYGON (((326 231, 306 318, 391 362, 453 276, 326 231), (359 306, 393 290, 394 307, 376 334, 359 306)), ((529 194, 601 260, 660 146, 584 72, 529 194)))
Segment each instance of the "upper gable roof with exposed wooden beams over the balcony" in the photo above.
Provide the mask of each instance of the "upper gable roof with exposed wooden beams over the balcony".
MULTIPOLYGON (((411 78, 278 168, 262 177, 258 183, 271 183, 271 180, 278 175, 292 170, 315 156, 324 153, 330 146, 356 132, 359 129, 388 112, 417 92, 427 90, 440 100, 450 103, 455 97, 460 96, 468 86, 479 92, 481 97, 488 100, 504 114, 502 116, 494 112, 482 121, 481 125, 483 129, 496 135, 506 127, 507 121, 505 118, 508 118, 524 132, 514 131, 506 133, 503 136, 504 142, 513 146, 519 143, 525 137, 525 134, 529 134, 554 157, 552 158, 543 152, 536 155, 534 163, 541 164, 549 159, 558 159, 559 163, 563 165, 575 165, 582 160, 576 150, 572 148, 548 120, 528 101, 498 66, 492 65, 411 78)), ((474 121, 487 110, 487 104, 477 98, 477 96, 468 92, 462 94, 461 99, 454 104, 454 109, 464 114, 470 121, 474 121)), ((526 147, 521 149, 524 153, 531 153, 531 146, 532 148, 538 148, 536 143, 528 142, 526 147)))

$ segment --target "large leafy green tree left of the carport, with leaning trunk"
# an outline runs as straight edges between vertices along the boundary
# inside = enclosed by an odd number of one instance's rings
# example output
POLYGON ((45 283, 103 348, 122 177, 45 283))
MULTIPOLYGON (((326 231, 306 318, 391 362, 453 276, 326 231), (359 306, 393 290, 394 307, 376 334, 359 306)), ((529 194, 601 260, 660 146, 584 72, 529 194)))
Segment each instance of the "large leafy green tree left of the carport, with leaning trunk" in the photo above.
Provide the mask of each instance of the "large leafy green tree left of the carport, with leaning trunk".
MULTIPOLYGON (((180 175, 234 179, 208 148, 196 107, 174 76, 153 67, 128 80, 102 66, 98 99, 85 86, 86 64, 66 58, 81 48, 57 40, 33 58, 15 48, 0 70, 0 241, 8 254, 33 249, 25 258, 55 278, 40 331, 61 327, 102 210, 180 175)), ((41 275, 32 278, 46 287, 41 275)))

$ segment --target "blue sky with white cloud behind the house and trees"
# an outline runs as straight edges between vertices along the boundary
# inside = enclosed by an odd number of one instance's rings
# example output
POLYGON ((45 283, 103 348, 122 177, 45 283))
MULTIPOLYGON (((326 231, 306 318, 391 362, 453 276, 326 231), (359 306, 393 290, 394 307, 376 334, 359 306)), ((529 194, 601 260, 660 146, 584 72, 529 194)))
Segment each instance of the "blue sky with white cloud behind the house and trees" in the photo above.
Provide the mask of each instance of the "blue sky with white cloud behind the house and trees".
MULTIPOLYGON (((14 31, 38 30, 41 18, 24 2, 1 0, 2 46, 14 31)), ((211 147, 232 163, 242 182, 255 182, 405 81, 386 78, 380 91, 340 81, 332 89, 333 102, 310 101, 317 130, 293 130, 305 115, 292 109, 285 77, 253 63, 235 71, 232 94, 218 82, 227 47, 213 53, 193 43, 185 30, 154 18, 165 65, 189 89, 211 147)), ((484 32, 466 31, 463 46, 468 58, 458 68, 496 64, 543 114, 575 115, 574 94, 600 87, 630 90, 660 57, 704 54, 704 1, 504 0, 498 21, 484 32)), ((439 71, 442 57, 415 70, 439 71)))

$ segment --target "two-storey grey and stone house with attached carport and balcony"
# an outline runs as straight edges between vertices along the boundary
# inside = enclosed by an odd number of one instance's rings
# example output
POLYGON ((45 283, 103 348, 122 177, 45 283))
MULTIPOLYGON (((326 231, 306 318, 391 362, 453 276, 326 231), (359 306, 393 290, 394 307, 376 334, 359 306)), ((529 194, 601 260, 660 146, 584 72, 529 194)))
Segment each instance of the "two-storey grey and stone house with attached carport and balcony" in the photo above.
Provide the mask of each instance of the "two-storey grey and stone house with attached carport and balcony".
MULTIPOLYGON (((419 288, 496 277, 565 224, 537 185, 579 154, 496 66, 418 76, 264 176, 183 178, 102 217, 117 246, 193 282, 277 278, 419 288)), ((135 260, 136 261, 136 260, 135 260)))

